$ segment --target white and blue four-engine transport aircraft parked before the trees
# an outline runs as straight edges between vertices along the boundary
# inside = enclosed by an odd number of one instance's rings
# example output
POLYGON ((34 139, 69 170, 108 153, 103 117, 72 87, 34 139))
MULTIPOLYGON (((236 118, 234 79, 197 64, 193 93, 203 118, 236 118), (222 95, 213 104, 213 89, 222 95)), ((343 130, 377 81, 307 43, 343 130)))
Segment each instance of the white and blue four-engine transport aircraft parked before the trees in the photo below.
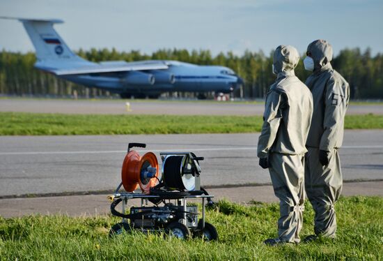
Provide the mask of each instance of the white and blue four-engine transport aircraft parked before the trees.
POLYGON ((54 30, 62 20, 24 19, 24 25, 36 49, 35 67, 86 87, 104 89, 120 94, 158 97, 168 91, 230 93, 243 84, 233 70, 224 66, 198 66, 180 61, 86 61, 72 52, 54 30))

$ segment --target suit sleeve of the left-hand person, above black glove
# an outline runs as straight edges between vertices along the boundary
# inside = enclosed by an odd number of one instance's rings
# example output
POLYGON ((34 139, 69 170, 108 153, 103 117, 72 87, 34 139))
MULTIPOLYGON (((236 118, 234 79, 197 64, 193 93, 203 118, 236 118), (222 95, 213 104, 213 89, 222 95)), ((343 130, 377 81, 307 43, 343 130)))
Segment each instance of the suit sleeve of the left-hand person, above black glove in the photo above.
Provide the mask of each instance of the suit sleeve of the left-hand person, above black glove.
POLYGON ((269 91, 266 97, 263 126, 258 139, 258 158, 266 158, 278 133, 282 119, 283 96, 279 91, 269 91))

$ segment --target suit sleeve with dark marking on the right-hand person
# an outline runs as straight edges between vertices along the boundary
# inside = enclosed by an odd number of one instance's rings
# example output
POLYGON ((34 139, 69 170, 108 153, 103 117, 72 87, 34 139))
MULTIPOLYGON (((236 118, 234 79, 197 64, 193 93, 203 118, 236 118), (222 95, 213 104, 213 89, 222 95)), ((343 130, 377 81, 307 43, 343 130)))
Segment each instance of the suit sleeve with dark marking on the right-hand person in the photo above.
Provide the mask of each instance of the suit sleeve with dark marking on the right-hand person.
POLYGON ((343 121, 350 95, 347 84, 331 77, 325 89, 324 132, 320 139, 320 149, 331 151, 336 145, 340 133, 343 133, 343 121))

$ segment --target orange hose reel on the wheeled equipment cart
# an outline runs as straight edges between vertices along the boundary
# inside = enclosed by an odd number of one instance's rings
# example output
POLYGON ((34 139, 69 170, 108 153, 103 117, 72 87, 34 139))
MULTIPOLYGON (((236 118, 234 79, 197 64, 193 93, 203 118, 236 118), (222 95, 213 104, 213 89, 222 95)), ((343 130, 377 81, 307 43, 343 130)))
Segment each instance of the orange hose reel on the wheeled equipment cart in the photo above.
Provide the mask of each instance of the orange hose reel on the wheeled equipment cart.
POLYGON ((158 170, 157 157, 153 152, 140 157, 137 151, 130 151, 124 158, 121 170, 125 191, 133 192, 140 186, 141 191, 148 194, 157 182, 158 170))

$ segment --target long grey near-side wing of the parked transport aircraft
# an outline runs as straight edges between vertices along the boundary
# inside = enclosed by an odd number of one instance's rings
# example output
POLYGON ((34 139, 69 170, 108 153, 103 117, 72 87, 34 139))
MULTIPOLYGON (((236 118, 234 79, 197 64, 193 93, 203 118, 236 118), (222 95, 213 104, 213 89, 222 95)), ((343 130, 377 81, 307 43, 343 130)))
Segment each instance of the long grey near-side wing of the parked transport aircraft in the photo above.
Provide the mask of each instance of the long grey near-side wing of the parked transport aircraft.
MULTIPOLYGON (((36 66, 39 67, 39 66, 36 66)), ((51 70, 55 75, 80 75, 88 73, 117 73, 128 72, 131 70, 161 70, 169 66, 162 61, 110 61, 95 64, 94 66, 81 66, 76 68, 65 68, 51 70)))

